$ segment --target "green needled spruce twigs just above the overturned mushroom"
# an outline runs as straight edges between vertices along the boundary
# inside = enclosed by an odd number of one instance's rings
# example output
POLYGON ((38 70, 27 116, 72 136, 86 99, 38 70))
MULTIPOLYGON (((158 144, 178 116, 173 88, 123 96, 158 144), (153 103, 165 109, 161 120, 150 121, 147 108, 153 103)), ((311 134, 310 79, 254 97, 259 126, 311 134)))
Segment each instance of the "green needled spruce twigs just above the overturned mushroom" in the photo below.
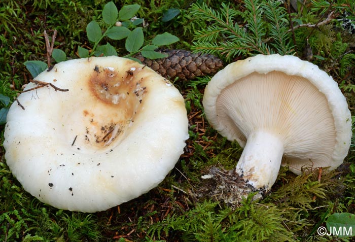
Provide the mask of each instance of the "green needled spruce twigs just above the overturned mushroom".
POLYGON ((205 29, 195 32, 192 49, 220 56, 227 62, 238 55, 292 53, 286 10, 277 1, 265 2, 245 0, 243 12, 226 4, 220 9, 192 4, 191 14, 206 24, 205 29), (240 17, 242 23, 236 21, 240 17))

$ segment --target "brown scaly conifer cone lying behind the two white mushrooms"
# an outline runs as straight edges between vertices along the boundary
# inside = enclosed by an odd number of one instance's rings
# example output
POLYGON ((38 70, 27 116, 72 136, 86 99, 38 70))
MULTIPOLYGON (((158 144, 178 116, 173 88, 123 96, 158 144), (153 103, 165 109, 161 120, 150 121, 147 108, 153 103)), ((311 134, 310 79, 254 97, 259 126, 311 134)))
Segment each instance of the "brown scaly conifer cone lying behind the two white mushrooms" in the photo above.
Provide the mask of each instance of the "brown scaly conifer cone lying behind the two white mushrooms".
POLYGON ((161 76, 174 80, 179 77, 180 80, 194 79, 204 75, 215 74, 223 67, 223 62, 219 58, 210 54, 191 53, 187 50, 157 50, 160 53, 168 54, 161 59, 148 59, 141 54, 134 58, 140 60, 143 64, 149 66, 161 76))

